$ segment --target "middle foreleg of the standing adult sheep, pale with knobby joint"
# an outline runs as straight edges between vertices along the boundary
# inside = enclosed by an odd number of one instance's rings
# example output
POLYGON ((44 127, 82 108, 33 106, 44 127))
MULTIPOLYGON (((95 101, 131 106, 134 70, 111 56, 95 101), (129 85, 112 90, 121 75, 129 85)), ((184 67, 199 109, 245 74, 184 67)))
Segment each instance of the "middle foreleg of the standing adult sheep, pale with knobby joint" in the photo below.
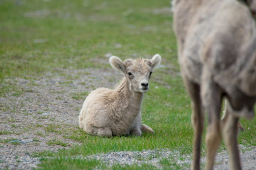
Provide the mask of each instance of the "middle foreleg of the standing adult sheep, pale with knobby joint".
POLYGON ((218 84, 206 76, 204 72, 201 82, 203 107, 208 113, 208 129, 206 132, 207 161, 205 169, 213 169, 215 154, 221 142, 220 110, 222 94, 218 84))

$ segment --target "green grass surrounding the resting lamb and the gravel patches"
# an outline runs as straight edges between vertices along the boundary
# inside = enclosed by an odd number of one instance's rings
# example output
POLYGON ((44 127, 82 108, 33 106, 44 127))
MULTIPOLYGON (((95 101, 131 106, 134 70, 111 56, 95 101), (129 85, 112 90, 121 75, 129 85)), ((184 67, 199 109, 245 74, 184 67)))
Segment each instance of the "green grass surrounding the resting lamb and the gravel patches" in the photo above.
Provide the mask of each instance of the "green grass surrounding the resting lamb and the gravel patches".
MULTIPOLYGON (((159 53, 164 65, 154 72, 142 106, 143 122, 155 135, 108 139, 86 135, 77 128, 69 139, 82 145, 58 153, 36 153, 55 157, 43 159, 39 169, 105 169, 105 164, 95 160, 72 158, 96 153, 162 148, 192 153, 190 99, 179 74, 170 8, 169 0, 0 1, 1 96, 19 92, 18 85, 8 84, 7 79, 33 80, 60 69, 109 68, 109 64, 97 62, 106 54, 124 60, 159 53)), ((240 132, 239 143, 256 145, 256 119, 242 119, 241 123, 245 132, 240 132)), ((168 167, 175 162, 163 164, 168 167)), ((150 165, 112 167, 121 168, 155 169, 150 165)))

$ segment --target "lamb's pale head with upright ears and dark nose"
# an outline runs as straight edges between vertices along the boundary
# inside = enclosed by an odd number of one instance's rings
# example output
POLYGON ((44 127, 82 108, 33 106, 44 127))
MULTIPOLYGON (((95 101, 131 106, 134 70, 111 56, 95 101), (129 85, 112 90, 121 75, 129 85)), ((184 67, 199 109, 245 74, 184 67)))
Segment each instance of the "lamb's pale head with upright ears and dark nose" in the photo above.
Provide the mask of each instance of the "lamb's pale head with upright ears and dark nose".
POLYGON ((137 59, 124 60, 119 57, 110 57, 110 64, 114 69, 122 72, 129 83, 129 90, 145 93, 149 90, 149 79, 152 70, 161 62, 160 55, 154 55, 151 60, 137 59))

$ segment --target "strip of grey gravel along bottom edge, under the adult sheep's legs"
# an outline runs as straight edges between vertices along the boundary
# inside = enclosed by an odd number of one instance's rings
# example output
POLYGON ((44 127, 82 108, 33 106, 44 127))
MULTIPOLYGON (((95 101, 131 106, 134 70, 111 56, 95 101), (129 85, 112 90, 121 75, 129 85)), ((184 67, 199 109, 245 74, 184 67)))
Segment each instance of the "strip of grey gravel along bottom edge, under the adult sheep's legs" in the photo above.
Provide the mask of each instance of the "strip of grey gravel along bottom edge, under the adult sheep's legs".
MULTIPOLYGON (((256 169, 256 147, 244 147, 240 145, 240 151, 245 151, 240 154, 242 168, 246 170, 256 169)), ((161 164, 163 159, 167 159, 170 162, 175 162, 182 169, 191 169, 192 156, 181 154, 178 150, 167 150, 167 149, 155 149, 155 150, 145 150, 142 152, 110 152, 107 154, 94 154, 88 157, 80 157, 80 159, 97 159, 105 162, 108 166, 113 166, 114 164, 132 165, 132 164, 152 164, 158 169, 166 169, 161 164)), ((175 165, 174 164, 174 165, 175 165)), ((201 158, 201 168, 202 164, 206 164, 206 157, 201 158)), ((169 169, 176 169, 175 166, 169 165, 169 169)), ((214 169, 225 170, 230 169, 230 164, 228 162, 228 152, 223 151, 216 155, 214 169)))

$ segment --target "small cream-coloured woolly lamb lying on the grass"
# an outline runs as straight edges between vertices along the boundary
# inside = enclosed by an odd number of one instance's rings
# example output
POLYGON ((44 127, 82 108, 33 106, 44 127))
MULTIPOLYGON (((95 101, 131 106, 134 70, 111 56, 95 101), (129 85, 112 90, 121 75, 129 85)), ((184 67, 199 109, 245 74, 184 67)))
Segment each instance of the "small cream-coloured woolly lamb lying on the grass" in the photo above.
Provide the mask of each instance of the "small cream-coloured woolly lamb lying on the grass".
POLYGON ((149 90, 152 70, 161 62, 160 55, 151 60, 122 60, 110 57, 111 66, 124 74, 122 82, 113 90, 100 88, 92 91, 79 115, 80 128, 91 135, 137 135, 154 131, 142 124, 142 97, 149 90))

